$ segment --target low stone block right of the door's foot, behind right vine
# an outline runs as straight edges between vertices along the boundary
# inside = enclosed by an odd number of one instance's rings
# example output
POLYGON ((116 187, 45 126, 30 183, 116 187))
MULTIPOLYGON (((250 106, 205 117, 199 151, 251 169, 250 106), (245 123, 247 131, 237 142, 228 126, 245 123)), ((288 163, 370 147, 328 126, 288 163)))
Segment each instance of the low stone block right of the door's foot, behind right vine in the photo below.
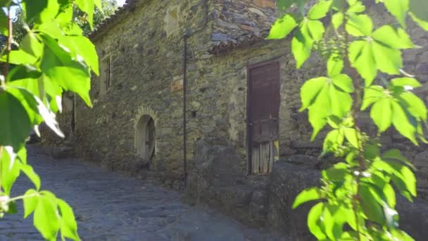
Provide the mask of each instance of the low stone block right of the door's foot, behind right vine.
MULTIPOLYGON (((292 156, 290 159, 293 161, 292 156)), ((279 161, 275 163, 270 178, 267 224, 274 231, 291 234, 293 240, 313 240, 313 236, 308 233, 306 217, 315 202, 303 204, 295 210, 291 207, 299 192, 319 184, 320 171, 314 167, 315 165, 310 163, 296 165, 290 161, 279 161)), ((428 203, 426 201, 415 199, 415 202, 410 203, 399 196, 397 209, 403 230, 415 240, 424 240, 428 237, 426 228, 428 227, 428 203)))

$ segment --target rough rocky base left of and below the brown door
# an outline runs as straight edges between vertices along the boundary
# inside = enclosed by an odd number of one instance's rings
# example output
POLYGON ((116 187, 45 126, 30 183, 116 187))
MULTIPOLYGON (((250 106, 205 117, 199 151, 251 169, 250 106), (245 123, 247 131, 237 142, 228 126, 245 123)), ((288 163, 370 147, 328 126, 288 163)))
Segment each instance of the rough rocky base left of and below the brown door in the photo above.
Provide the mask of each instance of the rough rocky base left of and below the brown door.
POLYGON ((206 204, 238 221, 260 228, 267 214, 268 176, 246 176, 241 158, 224 140, 196 142, 195 166, 184 201, 206 204))

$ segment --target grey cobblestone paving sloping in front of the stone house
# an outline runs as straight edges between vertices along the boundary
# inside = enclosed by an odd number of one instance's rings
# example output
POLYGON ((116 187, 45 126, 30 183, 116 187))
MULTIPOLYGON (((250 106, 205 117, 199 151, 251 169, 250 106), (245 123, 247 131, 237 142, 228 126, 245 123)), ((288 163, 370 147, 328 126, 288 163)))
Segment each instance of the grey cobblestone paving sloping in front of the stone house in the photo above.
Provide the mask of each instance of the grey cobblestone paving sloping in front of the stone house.
MULTIPOLYGON (((29 147, 28 162, 41 175, 42 189, 73 206, 82 240, 279 240, 216 211, 182 204, 179 192, 37 150, 29 147)), ((28 188, 25 178, 18 179, 13 196, 28 188)), ((18 206, 18 215, 0 220, 0 241, 42 240, 32 216, 23 221, 18 206)))

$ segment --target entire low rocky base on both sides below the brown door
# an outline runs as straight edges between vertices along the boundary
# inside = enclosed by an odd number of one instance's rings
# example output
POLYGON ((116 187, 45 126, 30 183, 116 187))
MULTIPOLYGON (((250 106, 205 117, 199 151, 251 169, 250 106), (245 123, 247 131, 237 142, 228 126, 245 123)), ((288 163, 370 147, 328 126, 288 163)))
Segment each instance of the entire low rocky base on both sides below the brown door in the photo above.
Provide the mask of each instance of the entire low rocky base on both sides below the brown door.
MULTIPOLYGON (((228 141, 210 138, 196 142, 196 158, 190 170, 184 201, 203 204, 233 216, 254 228, 292 240, 314 240, 308 231, 307 216, 315 202, 292 209, 294 199, 304 189, 320 185, 320 169, 334 159, 308 155, 282 156, 270 175, 244 173, 241 157, 228 141)), ((412 204, 397 197, 401 228, 416 240, 428 237, 428 202, 415 199, 412 204)))

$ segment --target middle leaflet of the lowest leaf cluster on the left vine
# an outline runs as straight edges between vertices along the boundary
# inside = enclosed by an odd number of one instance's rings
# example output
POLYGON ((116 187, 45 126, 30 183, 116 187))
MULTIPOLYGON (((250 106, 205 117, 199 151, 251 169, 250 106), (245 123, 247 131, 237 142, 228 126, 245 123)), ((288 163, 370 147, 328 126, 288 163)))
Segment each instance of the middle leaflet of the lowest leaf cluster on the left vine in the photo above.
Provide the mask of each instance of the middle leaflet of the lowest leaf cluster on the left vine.
POLYGON ((34 226, 46 240, 56 240, 60 224, 56 202, 51 196, 40 195, 34 210, 34 226))

